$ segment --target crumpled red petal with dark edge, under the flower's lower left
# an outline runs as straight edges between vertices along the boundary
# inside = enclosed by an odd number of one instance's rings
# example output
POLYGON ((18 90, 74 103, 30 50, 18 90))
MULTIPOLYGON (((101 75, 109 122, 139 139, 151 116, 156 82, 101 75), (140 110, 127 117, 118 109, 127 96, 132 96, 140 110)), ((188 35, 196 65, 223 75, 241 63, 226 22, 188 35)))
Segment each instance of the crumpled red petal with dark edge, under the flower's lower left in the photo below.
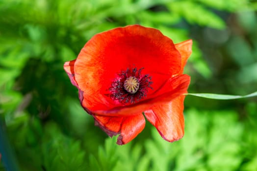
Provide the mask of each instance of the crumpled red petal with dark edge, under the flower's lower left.
POLYGON ((134 139, 144 128, 145 118, 143 114, 128 117, 94 116, 95 123, 109 136, 120 134, 117 144, 127 144, 134 139))

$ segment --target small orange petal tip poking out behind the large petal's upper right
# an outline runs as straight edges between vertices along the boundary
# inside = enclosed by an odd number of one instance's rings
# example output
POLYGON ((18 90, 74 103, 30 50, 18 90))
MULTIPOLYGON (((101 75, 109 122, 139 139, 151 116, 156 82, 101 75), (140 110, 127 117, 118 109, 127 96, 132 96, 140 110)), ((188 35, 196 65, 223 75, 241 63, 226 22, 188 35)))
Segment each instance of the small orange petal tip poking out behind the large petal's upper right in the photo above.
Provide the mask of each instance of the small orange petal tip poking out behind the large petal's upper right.
POLYGON ((193 44, 193 41, 191 39, 175 44, 176 49, 180 52, 180 55, 181 55, 180 74, 183 73, 184 66, 185 66, 189 56, 192 53, 192 44, 193 44))

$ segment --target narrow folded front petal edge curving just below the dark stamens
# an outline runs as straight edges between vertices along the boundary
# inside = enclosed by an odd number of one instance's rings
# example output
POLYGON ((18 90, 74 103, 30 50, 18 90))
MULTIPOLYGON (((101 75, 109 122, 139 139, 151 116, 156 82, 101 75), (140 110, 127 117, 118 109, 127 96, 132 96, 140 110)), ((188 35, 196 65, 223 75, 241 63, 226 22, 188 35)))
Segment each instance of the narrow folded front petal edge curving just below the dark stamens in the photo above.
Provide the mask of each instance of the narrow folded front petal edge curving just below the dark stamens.
MULTIPOLYGON (((159 90, 156 90, 153 98, 149 98, 142 102, 124 106, 114 107, 109 110, 95 110, 93 113, 98 115, 108 116, 127 116, 131 114, 141 113, 154 105, 160 105, 163 103, 171 102, 173 99, 187 93, 187 88, 190 83, 190 77, 188 75, 179 75, 169 79, 159 90)), ((83 103, 82 103, 83 104, 83 103)))

